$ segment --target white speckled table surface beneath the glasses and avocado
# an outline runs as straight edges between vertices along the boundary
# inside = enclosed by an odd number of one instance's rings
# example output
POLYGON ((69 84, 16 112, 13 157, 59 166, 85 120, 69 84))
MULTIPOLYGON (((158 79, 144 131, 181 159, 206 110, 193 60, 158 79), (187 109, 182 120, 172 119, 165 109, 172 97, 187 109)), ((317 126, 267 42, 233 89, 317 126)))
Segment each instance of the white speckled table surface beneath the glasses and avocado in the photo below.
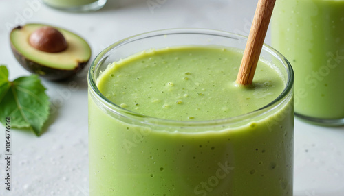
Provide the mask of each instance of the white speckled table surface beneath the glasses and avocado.
MULTIPOLYGON (((97 12, 69 13, 47 8, 38 0, 0 0, 0 64, 8 66, 10 79, 29 75, 14 59, 9 41, 10 29, 24 23, 47 23, 76 32, 91 45, 93 59, 113 42, 155 29, 196 27, 247 36, 256 3, 108 0, 97 12), (149 8, 147 2, 160 6, 149 8)), ((0 131, 0 195, 89 195, 87 68, 67 82, 43 80, 54 110, 42 136, 12 130, 12 191, 4 186, 5 138, 0 131), (68 87, 70 82, 76 82, 76 90, 68 87)), ((5 127, 0 125, 0 130, 5 127)), ((344 127, 319 127, 295 119, 294 133, 294 195, 343 196, 344 127)))

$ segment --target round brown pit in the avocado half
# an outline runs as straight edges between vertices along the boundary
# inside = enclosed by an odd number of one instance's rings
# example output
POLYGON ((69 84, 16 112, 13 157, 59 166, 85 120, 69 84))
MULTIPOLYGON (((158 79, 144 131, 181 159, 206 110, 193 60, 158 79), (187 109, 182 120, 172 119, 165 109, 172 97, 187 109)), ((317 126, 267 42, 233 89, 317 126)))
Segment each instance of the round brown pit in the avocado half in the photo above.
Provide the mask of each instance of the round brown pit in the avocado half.
POLYGON ((49 53, 58 53, 67 49, 67 41, 61 32, 53 27, 36 29, 30 37, 29 43, 35 49, 49 53))

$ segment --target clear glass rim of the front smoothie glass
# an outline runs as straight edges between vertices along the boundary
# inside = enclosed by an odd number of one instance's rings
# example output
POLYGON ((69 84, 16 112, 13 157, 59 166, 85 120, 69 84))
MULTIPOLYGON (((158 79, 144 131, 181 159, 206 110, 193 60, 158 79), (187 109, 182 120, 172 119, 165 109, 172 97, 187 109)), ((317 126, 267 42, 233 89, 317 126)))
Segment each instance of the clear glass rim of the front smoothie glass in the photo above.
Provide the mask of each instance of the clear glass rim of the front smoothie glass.
POLYGON ((180 123, 183 123, 183 125, 189 125, 189 126, 218 125, 218 124, 223 124, 223 123, 232 123, 232 122, 251 119, 252 115, 253 117, 257 117, 257 116, 266 114, 267 112, 274 110, 274 108, 276 108, 277 106, 280 106, 281 104, 283 104, 284 102, 283 99, 285 97, 288 97, 288 95, 292 91, 293 84, 294 84, 294 71, 292 69, 290 62, 281 53, 279 53, 279 51, 277 51, 276 49, 264 43, 262 51, 268 52, 269 54, 277 58, 277 60, 279 60, 279 62, 283 64, 284 70, 286 71, 288 78, 286 80, 286 84, 285 84, 285 87, 283 88, 282 93, 280 93, 279 96, 276 97, 276 99, 266 104, 266 106, 258 108, 257 110, 253 110, 246 114, 241 114, 235 117, 228 117, 224 119, 213 119, 213 120, 204 120, 204 121, 177 121, 177 120, 171 120, 171 119, 160 119, 158 117, 151 117, 151 116, 147 116, 144 114, 140 114, 140 113, 122 108, 118 106, 116 103, 113 103, 112 101, 107 99, 102 93, 100 93, 100 90, 96 86, 96 81, 94 80, 94 74, 95 74, 96 67, 98 66, 99 63, 101 63, 101 60, 109 51, 117 47, 120 47, 122 45, 128 44, 129 42, 136 41, 136 40, 141 40, 144 38, 150 38, 150 37, 156 37, 156 36, 175 35, 175 34, 203 34, 203 35, 211 35, 211 36, 220 36, 220 37, 231 38, 231 39, 236 39, 236 40, 245 40, 246 42, 248 40, 247 36, 233 34, 231 32, 224 32, 224 31, 215 30, 215 29, 197 29, 197 28, 160 29, 160 30, 155 30, 151 32, 144 32, 142 34, 136 34, 134 36, 130 36, 128 38, 119 40, 118 42, 114 42, 113 44, 103 49, 103 51, 98 53, 96 58, 94 58, 94 60, 92 61, 92 64, 89 66, 89 71, 87 74, 87 82, 89 82, 89 87, 91 87, 91 89, 89 90, 92 90, 92 93, 96 95, 97 99, 100 99, 100 101, 104 101, 102 102, 102 104, 105 103, 105 105, 107 105, 107 108, 109 110, 112 110, 113 112, 116 112, 117 114, 126 114, 127 116, 131 116, 136 119, 137 118, 142 119, 142 121, 153 120, 153 121, 158 121, 160 123, 169 124, 169 125, 180 125, 180 123), (275 105, 275 103, 278 103, 279 101, 281 101, 281 103, 277 104, 277 106, 270 108, 269 110, 267 110, 266 112, 263 112, 262 114, 259 114, 262 110, 265 110, 275 105), (109 108, 109 106, 114 106, 116 110, 109 108), (257 116, 254 114, 257 114, 257 116))

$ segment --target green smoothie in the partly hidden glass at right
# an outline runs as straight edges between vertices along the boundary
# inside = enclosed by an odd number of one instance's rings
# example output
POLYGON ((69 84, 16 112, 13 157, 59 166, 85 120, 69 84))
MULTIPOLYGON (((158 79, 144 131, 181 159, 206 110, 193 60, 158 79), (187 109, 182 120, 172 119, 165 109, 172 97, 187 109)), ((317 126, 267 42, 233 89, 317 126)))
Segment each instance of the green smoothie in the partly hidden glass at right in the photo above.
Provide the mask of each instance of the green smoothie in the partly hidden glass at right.
POLYGON ((280 0, 272 16, 272 47, 295 72, 295 112, 344 119, 344 1, 280 0))

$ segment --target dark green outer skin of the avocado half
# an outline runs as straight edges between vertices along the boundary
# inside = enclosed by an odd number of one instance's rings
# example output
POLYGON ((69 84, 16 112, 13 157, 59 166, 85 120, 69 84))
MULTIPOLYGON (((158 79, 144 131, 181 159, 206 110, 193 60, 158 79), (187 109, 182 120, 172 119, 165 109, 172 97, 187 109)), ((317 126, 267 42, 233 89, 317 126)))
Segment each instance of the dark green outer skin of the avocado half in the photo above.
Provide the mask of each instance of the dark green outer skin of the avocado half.
POLYGON ((78 62, 78 66, 76 66, 76 68, 72 70, 54 69, 25 58, 25 56, 23 56, 17 51, 17 49, 15 49, 12 43, 11 49, 14 57, 17 59, 19 64, 23 66, 23 68, 25 68, 27 71, 30 71, 31 73, 39 75, 44 79, 49 79, 52 81, 63 81, 69 79, 70 77, 73 77, 74 75, 76 75, 76 73, 78 73, 78 71, 83 69, 88 62, 88 60, 86 62, 78 62))

